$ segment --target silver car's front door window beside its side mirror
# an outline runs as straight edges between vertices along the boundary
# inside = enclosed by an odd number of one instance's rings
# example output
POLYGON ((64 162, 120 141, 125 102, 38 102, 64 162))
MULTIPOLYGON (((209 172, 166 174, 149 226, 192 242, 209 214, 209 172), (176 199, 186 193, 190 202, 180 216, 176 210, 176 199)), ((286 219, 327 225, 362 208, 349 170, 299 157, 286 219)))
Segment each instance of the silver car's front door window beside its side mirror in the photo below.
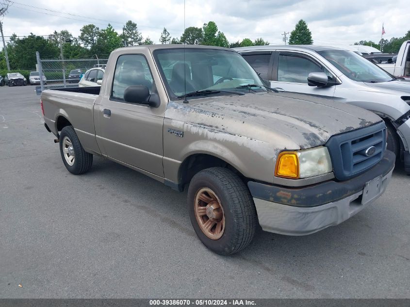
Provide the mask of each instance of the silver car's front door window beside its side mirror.
POLYGON ((279 55, 278 81, 307 84, 308 76, 311 72, 323 72, 323 69, 304 57, 279 55))

